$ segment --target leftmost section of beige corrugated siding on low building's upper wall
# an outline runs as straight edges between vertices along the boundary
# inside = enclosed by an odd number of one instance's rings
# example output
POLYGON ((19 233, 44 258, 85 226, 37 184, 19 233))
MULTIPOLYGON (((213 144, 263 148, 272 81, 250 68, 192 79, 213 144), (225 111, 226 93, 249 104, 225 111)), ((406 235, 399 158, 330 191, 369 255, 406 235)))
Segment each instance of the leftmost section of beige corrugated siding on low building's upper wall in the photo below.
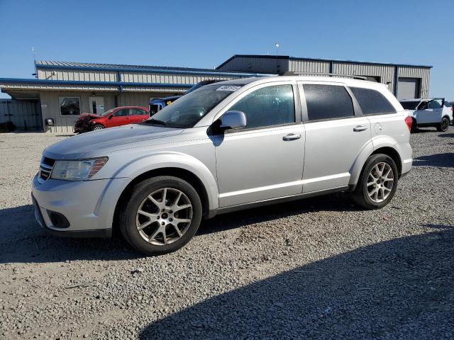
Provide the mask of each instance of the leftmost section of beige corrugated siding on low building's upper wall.
POLYGON ((119 81, 118 72, 77 69, 38 69, 38 79, 74 81, 119 81), (55 74, 54 74, 55 73, 55 74))

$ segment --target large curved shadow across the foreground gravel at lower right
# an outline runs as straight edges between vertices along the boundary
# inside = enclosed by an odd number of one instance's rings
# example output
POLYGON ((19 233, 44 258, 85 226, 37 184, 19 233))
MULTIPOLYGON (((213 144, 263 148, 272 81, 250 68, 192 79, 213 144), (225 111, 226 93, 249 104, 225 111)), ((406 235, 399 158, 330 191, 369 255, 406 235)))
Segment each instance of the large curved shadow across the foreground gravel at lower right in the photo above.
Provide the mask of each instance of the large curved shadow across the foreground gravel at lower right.
POLYGON ((139 339, 453 339, 454 227, 424 227, 211 297, 139 339))

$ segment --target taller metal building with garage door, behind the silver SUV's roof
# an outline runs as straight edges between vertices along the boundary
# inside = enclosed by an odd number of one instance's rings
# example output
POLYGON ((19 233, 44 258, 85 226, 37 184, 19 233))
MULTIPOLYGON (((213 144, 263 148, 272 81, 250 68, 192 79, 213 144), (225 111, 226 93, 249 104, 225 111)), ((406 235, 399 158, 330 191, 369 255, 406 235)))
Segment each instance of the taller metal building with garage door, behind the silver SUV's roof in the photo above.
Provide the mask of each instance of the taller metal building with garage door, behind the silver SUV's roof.
POLYGON ((325 60, 288 55, 233 55, 216 67, 226 72, 303 72, 315 76, 322 73, 364 76, 387 84, 398 99, 427 97, 431 68, 425 65, 325 60))

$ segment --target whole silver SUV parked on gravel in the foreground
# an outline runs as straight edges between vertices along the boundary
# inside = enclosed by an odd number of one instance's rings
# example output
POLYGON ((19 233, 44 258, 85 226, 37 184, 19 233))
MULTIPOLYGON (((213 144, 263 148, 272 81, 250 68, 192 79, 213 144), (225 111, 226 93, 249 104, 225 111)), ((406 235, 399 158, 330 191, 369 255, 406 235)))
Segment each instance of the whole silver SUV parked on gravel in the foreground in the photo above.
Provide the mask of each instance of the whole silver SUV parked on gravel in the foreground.
POLYGON ((144 254, 189 242, 201 218, 348 191, 367 209, 411 169, 402 106, 383 84, 266 77, 203 86, 138 125, 45 149, 33 180, 40 225, 63 236, 118 228, 144 254))

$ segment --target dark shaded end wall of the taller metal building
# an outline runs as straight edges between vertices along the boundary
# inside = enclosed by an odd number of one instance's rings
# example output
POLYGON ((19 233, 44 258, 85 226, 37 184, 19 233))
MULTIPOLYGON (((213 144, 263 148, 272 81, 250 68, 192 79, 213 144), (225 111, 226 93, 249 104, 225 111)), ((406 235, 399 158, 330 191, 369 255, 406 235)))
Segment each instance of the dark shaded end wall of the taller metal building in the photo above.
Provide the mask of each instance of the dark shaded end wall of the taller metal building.
POLYGON ((289 70, 286 58, 236 57, 219 68, 222 71, 242 71, 257 73, 284 73, 289 70))

